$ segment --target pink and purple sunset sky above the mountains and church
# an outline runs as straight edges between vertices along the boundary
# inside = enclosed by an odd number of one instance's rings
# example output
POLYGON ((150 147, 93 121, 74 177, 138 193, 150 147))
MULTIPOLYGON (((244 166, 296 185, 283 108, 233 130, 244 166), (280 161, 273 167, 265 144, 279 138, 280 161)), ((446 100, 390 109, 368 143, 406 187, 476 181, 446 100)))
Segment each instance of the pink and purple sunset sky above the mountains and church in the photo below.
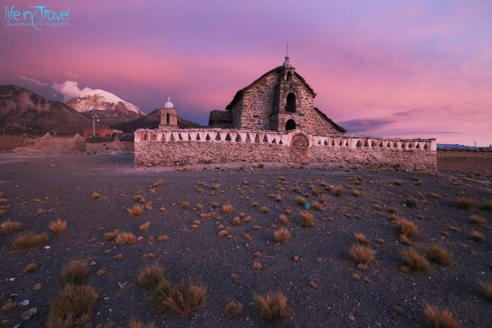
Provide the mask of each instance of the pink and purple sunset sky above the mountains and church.
POLYGON ((351 134, 492 143, 491 1, 46 0, 70 26, 41 30, 5 15, 39 2, 2 4, 0 84, 53 100, 66 81, 147 113, 170 96, 207 124, 289 42, 315 106, 351 134))

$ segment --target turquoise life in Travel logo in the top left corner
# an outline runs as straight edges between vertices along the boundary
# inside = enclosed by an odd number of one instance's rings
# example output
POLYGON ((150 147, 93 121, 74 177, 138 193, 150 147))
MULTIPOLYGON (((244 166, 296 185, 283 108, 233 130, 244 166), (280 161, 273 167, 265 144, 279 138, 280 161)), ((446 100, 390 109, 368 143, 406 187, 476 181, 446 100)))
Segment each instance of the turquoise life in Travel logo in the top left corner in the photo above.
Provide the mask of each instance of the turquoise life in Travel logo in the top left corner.
POLYGON ((45 26, 70 26, 70 7, 67 11, 51 11, 47 6, 30 6, 30 10, 15 9, 15 6, 5 6, 5 27, 34 27, 38 31, 45 26))

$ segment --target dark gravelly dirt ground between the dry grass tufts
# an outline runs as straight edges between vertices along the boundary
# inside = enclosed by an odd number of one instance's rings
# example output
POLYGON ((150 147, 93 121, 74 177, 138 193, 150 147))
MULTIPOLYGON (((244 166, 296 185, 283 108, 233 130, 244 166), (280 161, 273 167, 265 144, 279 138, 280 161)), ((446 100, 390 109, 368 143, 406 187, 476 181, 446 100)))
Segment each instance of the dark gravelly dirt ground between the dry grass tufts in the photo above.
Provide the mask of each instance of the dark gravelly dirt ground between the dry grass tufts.
POLYGON ((100 295, 91 318, 93 327, 108 321, 124 327, 130 317, 153 321, 156 327, 271 327, 252 304, 253 292, 268 291, 287 296, 290 320, 285 327, 425 327, 426 303, 448 308, 463 327, 492 327, 492 303, 477 287, 479 279, 492 281, 492 213, 480 209, 492 202, 491 176, 268 164, 265 169, 249 166, 246 171, 235 165, 219 169, 208 165, 207 170, 195 166, 194 171, 190 167, 188 171, 134 169, 133 160, 131 155, 0 154, 0 192, 11 206, 0 222, 10 219, 22 224, 13 234, 0 232, 0 305, 8 299, 30 300, 29 306, 17 306, 12 312, 0 309, 0 320, 8 320, 3 321, 6 327, 20 323, 43 327, 61 288, 61 269, 78 256, 91 256, 96 262, 89 273, 89 282, 100 295), (363 183, 357 185, 355 176, 361 176, 363 183), (161 179, 164 183, 153 190, 152 184, 161 179), (403 185, 396 185, 395 179, 403 185), (210 189, 216 184, 217 190, 210 189), (290 191, 296 185, 300 194, 290 191), (310 185, 320 195, 313 195, 310 185), (324 185, 342 186, 344 195, 335 197, 324 185), (354 190, 361 192, 360 197, 354 196, 354 190), (103 198, 92 199, 93 192, 103 198), (127 208, 138 204, 132 199, 136 192, 152 202, 152 209, 132 217, 127 208), (418 198, 417 192, 424 197, 418 198), (268 197, 278 194, 281 202, 268 197), (296 197, 302 194, 311 204, 325 201, 323 211, 309 209, 314 216, 311 228, 301 225, 303 208, 296 197), (477 199, 477 204, 470 210, 459 209, 457 197, 477 199), (409 198, 417 201, 416 208, 405 206, 409 198), (191 207, 184 209, 182 202, 190 202, 191 207), (219 209, 212 207, 213 202, 219 209), (253 207, 252 202, 259 206, 253 207), (221 206, 228 203, 233 213, 226 215, 221 206), (193 210, 197 204, 204 206, 203 211, 193 210), (375 209, 375 204, 381 209, 375 209), (268 207, 268 214, 261 212, 262 206, 268 207), (397 216, 418 226, 419 234, 412 239, 417 251, 422 253, 425 244, 440 244, 452 254, 453 265, 432 263, 432 270, 425 273, 403 273, 400 252, 407 246, 389 219, 391 206, 396 207, 397 216), (39 215, 40 208, 48 212, 39 215), (279 215, 287 209, 292 213, 283 225, 279 215), (233 225, 233 218, 240 214, 252 221, 233 225), (486 218, 486 224, 472 225, 472 214, 486 218), (54 234, 48 224, 58 218, 67 221, 67 230, 54 234), (200 224, 193 229, 196 220, 200 224), (139 226, 146 222, 148 230, 140 232, 139 226), (219 237, 219 225, 230 228, 227 235, 231 237, 219 237), (255 225, 259 230, 253 229, 255 225), (273 231, 281 226, 292 237, 277 246, 273 231), (104 233, 115 229, 133 232, 143 240, 124 246, 105 242, 104 233), (473 230, 486 240, 472 240, 473 230), (12 246, 16 237, 30 231, 47 232, 50 248, 12 246), (246 233, 251 240, 243 237, 246 233), (367 270, 359 270, 349 256, 356 233, 370 239, 375 251, 376 262, 367 270), (167 235, 167 242, 157 242, 160 235, 167 235), (261 255, 253 256, 257 251, 261 255), (150 253, 155 257, 143 258, 150 253), (117 254, 122 254, 119 261, 114 259, 117 254), (294 256, 299 261, 293 261, 294 256), (186 317, 159 312, 137 282, 138 271, 156 261, 173 282, 193 280, 207 286, 205 308, 186 317), (31 262, 39 268, 22 273, 31 262), (261 263, 260 270, 252 268, 255 262, 261 263), (107 273, 98 277, 97 271, 103 268, 107 273), (232 279, 233 274, 238 277, 232 279), (354 280, 354 274, 361 280, 354 280), (42 284, 41 291, 33 290, 37 283, 42 284), (223 314, 231 300, 244 305, 234 319, 223 314), (403 309, 403 314, 396 314, 394 306, 403 309), (22 313, 32 307, 39 314, 23 322, 22 313))

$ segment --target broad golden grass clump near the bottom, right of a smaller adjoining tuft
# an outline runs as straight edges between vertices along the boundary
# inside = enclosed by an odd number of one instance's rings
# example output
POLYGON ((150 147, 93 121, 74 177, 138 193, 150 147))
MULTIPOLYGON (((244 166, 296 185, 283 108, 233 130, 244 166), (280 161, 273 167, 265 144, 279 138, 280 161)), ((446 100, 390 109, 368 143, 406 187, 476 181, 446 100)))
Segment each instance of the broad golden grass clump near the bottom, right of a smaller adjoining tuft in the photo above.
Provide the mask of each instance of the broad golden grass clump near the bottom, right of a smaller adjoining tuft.
POLYGON ((164 280, 152 294, 161 310, 179 315, 189 315, 200 310, 207 302, 207 287, 193 282, 173 284, 164 280))

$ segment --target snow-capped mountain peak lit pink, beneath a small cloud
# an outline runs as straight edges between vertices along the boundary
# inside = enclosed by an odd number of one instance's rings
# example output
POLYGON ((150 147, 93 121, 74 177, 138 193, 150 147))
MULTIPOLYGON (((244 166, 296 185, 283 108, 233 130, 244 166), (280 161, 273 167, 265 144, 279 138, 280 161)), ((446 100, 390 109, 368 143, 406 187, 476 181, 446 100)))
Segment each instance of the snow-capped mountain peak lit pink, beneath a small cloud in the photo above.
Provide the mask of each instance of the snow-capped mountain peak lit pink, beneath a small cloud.
POLYGON ((68 101, 67 105, 86 117, 96 117, 106 125, 129 122, 145 116, 140 108, 103 90, 93 90, 68 101))

